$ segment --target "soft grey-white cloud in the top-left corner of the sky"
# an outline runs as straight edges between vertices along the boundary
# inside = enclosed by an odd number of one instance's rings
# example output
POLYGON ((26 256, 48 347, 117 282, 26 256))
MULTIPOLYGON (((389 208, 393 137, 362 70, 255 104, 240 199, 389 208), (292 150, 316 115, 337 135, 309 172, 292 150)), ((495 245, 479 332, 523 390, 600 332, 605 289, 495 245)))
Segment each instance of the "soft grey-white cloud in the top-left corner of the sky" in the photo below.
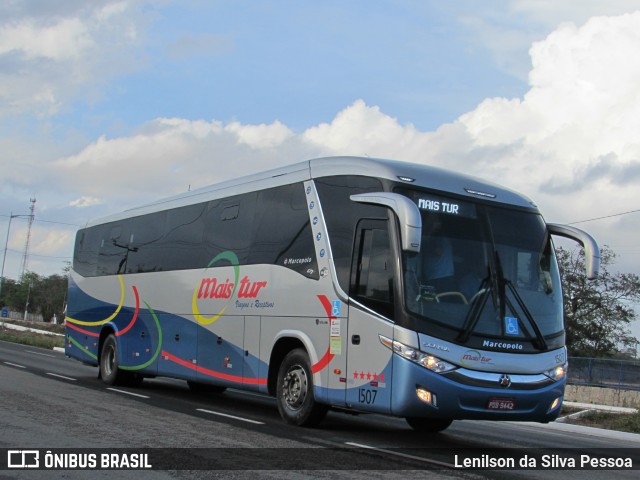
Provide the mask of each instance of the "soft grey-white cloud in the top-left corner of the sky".
POLYGON ((51 116, 71 99, 99 95, 139 68, 141 5, 70 3, 46 13, 29 2, 0 7, 0 116, 51 116))

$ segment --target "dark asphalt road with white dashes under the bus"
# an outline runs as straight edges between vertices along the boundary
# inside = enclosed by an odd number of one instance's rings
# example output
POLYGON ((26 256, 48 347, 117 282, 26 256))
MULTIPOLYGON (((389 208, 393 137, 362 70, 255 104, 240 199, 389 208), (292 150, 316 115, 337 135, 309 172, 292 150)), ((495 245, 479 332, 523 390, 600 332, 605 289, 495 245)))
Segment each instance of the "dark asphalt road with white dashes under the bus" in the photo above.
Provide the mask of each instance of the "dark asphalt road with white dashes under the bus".
POLYGON ((109 388, 98 380, 97 368, 62 353, 6 342, 0 342, 0 448, 155 449, 162 453, 156 460, 176 469, 0 470, 0 480, 335 478, 336 474, 362 479, 635 479, 640 465, 640 435, 565 424, 478 421, 454 422, 443 433, 424 435, 402 419, 340 412, 330 412, 319 428, 296 428, 281 421, 269 397, 235 390, 196 395, 186 382, 171 379, 146 379, 139 388, 109 388), (489 457, 506 461, 523 452, 535 457, 540 452, 536 449, 551 455, 545 466, 588 453, 631 458, 636 470, 460 467, 467 457, 480 461, 487 455, 486 461, 489 457), (213 470, 188 470, 211 465, 212 459, 213 470))

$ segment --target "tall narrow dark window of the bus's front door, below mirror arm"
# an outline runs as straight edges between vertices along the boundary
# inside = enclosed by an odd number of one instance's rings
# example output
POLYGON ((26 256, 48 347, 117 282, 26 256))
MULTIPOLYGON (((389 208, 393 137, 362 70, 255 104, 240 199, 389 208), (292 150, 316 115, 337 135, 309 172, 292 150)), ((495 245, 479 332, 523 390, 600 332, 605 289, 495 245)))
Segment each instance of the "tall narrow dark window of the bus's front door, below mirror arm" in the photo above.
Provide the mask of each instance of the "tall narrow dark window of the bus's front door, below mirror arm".
POLYGON ((393 319, 393 263, 384 220, 363 220, 356 232, 351 296, 393 319))

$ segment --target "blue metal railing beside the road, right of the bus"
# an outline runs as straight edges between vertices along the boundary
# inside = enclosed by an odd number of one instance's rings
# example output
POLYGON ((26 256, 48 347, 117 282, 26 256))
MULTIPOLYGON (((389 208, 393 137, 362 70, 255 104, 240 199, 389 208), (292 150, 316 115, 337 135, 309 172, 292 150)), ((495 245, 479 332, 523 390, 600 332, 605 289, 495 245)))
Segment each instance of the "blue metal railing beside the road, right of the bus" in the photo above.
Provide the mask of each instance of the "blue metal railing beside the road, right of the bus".
POLYGON ((640 390, 640 361, 569 357, 567 383, 640 390))

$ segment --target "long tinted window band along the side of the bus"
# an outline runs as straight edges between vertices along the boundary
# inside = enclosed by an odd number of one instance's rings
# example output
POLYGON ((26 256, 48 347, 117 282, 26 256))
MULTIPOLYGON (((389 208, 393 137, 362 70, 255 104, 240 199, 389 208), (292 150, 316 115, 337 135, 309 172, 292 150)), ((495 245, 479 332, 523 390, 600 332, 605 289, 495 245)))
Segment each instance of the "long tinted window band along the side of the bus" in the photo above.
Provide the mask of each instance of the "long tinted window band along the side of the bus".
POLYGON ((132 217, 78 232, 83 276, 205 268, 231 250, 240 264, 281 265, 319 278, 302 184, 132 217))

